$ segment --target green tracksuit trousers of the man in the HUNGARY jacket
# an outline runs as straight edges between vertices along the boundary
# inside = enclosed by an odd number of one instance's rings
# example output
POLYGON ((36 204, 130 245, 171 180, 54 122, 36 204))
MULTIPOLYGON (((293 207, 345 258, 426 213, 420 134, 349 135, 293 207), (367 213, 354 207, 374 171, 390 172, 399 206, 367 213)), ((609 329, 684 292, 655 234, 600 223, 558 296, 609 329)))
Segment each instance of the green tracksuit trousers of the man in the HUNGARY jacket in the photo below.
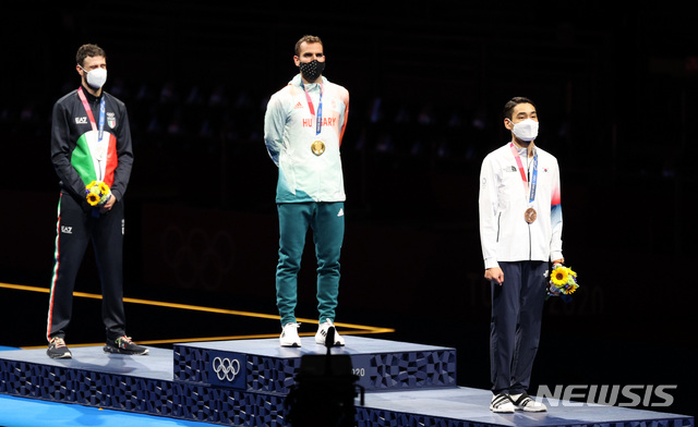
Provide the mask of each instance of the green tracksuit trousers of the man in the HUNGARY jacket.
POLYGON ((339 294, 339 253, 345 235, 344 202, 278 204, 279 264, 276 267, 276 305, 281 326, 296 322, 298 271, 308 229, 313 231, 317 258, 320 321, 335 320, 339 294))

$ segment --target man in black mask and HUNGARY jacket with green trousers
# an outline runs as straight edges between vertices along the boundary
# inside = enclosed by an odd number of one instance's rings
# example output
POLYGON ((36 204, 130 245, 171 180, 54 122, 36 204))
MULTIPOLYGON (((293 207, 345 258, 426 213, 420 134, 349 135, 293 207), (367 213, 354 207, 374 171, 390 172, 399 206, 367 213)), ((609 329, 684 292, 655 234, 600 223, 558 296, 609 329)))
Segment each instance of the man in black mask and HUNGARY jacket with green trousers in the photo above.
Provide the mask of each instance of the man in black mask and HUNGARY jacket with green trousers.
MULTIPOLYGON (((320 38, 301 38, 296 44, 293 61, 300 74, 272 96, 264 118, 266 148, 279 168, 276 293, 281 346, 301 345, 294 309, 309 227, 317 256, 320 327, 315 342, 325 343, 335 320, 345 231, 346 196, 339 147, 347 125, 349 93, 322 76, 325 56, 320 38)), ((333 345, 344 345, 337 333, 333 345)))

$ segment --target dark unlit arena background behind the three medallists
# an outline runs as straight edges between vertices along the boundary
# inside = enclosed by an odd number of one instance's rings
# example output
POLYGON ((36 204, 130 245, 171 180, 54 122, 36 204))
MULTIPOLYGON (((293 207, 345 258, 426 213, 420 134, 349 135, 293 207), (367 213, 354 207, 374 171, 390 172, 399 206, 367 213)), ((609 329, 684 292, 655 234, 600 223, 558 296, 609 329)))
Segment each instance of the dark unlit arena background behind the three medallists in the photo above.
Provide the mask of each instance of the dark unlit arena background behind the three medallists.
MULTIPOLYGON (((661 3, 376 4, 121 1, 3 13, 0 281, 49 285, 50 111, 79 84, 77 47, 95 42, 108 56, 106 90, 129 108, 135 151, 127 296, 275 314, 277 172, 263 118, 297 72, 296 40, 314 34, 325 75, 351 94, 337 321, 455 346, 459 385, 489 388, 478 175, 509 138, 502 107, 527 96, 538 105, 537 144, 561 163, 565 258, 581 284, 573 303, 546 303, 531 392, 676 385, 674 404, 658 410, 696 415, 691 16, 661 3)), ((314 318, 308 249, 297 314, 314 318)), ((89 253, 76 290, 99 293, 89 253)), ((44 345, 46 294, 0 297, 0 344, 44 345)), ((98 306, 75 304, 69 344, 99 341, 98 306)), ((279 330, 127 309, 136 340, 279 330)))

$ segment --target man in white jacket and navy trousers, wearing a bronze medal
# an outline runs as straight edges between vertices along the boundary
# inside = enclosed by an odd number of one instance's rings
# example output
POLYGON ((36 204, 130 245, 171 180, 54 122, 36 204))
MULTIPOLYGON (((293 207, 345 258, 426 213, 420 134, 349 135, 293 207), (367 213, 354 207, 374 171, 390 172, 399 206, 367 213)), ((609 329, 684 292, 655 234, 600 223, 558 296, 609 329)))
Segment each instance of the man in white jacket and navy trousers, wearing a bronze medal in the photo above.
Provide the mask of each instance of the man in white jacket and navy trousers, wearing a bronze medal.
POLYGON ((480 240, 492 285, 490 410, 541 412, 529 398, 538 351, 547 263, 563 263, 559 169, 535 146, 538 113, 528 98, 504 108, 512 142, 490 152, 480 173, 480 240))

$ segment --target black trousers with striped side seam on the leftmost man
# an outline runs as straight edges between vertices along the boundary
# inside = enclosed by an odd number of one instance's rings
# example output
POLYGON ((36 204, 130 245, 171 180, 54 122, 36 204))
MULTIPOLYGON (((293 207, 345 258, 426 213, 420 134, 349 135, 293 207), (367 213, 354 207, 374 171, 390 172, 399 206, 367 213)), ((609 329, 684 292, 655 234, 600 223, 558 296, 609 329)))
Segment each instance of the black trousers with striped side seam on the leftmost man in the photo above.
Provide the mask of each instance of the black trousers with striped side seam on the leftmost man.
POLYGON ((64 338, 73 310, 73 289, 85 249, 92 241, 101 283, 101 318, 106 338, 125 334, 123 310, 123 203, 107 213, 95 215, 85 203, 62 193, 58 223, 53 277, 48 307, 47 338, 64 338))

